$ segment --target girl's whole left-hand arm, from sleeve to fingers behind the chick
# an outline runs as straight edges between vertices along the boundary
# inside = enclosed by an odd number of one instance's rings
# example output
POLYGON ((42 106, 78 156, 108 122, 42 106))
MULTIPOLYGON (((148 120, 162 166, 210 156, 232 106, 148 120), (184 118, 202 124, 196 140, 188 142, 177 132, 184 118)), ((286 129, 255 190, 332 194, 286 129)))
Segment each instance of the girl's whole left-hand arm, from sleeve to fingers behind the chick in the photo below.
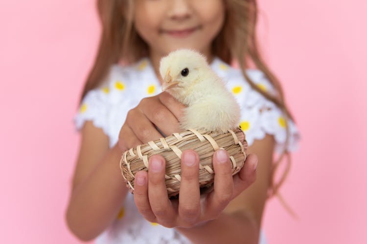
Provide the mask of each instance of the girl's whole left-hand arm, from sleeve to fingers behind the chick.
POLYGON ((81 240, 97 237, 116 218, 128 188, 119 162, 123 151, 179 131, 184 105, 162 92, 142 99, 122 125, 118 146, 109 149, 108 137, 92 122, 82 129, 82 143, 66 213, 70 230, 81 240), (121 148, 121 149, 119 149, 121 148))

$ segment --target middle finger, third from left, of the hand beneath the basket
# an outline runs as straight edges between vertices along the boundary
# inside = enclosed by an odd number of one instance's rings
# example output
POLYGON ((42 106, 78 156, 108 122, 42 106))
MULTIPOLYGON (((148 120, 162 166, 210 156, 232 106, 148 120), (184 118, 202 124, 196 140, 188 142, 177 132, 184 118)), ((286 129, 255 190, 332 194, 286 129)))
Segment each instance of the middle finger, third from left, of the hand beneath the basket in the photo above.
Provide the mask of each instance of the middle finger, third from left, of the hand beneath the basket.
POLYGON ((199 155, 195 151, 183 152, 181 172, 179 215, 193 224, 200 216, 199 155))

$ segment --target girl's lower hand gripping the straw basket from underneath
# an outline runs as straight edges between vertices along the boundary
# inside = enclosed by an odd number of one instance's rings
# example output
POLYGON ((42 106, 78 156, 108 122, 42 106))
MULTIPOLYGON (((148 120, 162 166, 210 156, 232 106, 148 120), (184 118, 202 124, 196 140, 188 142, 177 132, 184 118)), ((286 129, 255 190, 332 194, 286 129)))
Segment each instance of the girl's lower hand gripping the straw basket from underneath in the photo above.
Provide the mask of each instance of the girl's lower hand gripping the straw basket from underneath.
POLYGON ((214 190, 200 195, 199 155, 193 150, 183 152, 179 199, 169 200, 165 185, 165 160, 161 155, 149 159, 149 171, 138 171, 135 178, 134 201, 139 212, 150 222, 165 227, 193 227, 218 218, 228 203, 249 187, 256 178, 257 156, 251 154, 244 167, 232 176, 226 150, 213 156, 214 190))

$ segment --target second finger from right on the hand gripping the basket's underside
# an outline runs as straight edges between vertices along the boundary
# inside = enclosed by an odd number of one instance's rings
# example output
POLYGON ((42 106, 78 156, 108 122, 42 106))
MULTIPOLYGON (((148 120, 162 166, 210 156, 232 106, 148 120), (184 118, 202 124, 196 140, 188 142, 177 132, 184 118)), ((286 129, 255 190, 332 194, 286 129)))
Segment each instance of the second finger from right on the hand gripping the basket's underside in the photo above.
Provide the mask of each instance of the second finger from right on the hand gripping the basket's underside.
POLYGON ((213 155, 214 191, 207 196, 207 207, 213 213, 220 213, 232 199, 233 178, 231 163, 226 150, 218 149, 213 155))

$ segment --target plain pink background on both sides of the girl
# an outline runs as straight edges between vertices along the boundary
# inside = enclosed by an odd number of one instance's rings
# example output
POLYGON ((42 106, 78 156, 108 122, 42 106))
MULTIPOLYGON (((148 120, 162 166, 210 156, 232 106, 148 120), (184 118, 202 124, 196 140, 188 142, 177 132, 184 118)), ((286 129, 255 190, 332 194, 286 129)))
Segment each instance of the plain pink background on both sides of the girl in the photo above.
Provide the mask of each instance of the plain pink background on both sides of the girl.
MULTIPOLYGON (((270 243, 367 243, 364 0, 260 0, 260 38, 303 140, 270 243)), ((72 116, 99 24, 91 0, 0 2, 1 243, 79 243, 64 211, 78 150, 72 116)))

